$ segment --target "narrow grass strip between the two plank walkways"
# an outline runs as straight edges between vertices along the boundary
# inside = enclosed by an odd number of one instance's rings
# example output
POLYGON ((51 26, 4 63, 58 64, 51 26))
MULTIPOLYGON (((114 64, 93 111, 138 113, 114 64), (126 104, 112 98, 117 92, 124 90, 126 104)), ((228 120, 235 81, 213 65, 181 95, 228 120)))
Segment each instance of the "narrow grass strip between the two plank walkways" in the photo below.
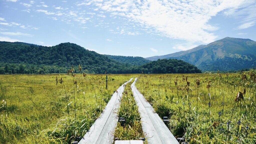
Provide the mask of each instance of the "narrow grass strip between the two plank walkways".
POLYGON ((131 89, 133 81, 134 79, 126 84, 123 97, 121 98, 119 119, 124 118, 125 124, 122 126, 118 122, 114 134, 114 137, 119 140, 138 140, 140 137, 144 137, 138 106, 136 105, 131 89))

